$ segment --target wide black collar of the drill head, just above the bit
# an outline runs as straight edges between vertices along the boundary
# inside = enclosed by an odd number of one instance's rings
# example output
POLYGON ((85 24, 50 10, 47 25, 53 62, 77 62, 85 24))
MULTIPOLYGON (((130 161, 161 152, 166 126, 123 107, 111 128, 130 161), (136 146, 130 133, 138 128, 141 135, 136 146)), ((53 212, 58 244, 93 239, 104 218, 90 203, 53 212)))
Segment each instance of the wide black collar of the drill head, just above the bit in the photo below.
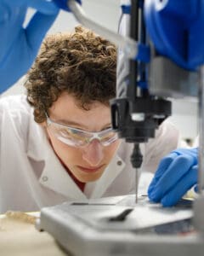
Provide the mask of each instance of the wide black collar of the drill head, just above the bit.
POLYGON ((155 137, 161 122, 171 114, 171 102, 164 99, 127 98, 111 100, 112 126, 127 143, 146 143, 155 137), (134 117, 140 120, 133 120, 134 117))

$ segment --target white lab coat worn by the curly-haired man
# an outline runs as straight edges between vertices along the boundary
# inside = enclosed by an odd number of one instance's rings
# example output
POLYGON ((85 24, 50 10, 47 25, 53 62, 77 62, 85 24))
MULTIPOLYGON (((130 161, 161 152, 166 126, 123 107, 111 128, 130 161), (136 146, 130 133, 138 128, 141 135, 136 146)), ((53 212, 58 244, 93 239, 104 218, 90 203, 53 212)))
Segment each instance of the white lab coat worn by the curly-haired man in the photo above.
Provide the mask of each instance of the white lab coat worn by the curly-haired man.
MULTIPOLYGON (((165 121, 143 145, 142 170, 154 172, 161 157, 178 145, 178 130, 165 121)), ((37 211, 63 201, 126 195, 134 191, 133 144, 122 143, 98 181, 84 193, 59 162, 26 96, 0 99, 0 212, 37 211)))

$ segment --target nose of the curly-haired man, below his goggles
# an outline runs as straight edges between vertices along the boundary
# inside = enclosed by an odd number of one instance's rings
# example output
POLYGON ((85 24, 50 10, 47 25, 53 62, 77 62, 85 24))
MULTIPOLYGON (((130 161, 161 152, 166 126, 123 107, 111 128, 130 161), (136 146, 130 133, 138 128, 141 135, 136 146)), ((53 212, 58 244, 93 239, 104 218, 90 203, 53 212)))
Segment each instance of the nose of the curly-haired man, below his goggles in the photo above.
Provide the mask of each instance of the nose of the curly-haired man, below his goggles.
POLYGON ((91 143, 84 148, 82 159, 86 160, 90 166, 99 166, 99 163, 104 157, 103 146, 97 139, 94 139, 91 143))

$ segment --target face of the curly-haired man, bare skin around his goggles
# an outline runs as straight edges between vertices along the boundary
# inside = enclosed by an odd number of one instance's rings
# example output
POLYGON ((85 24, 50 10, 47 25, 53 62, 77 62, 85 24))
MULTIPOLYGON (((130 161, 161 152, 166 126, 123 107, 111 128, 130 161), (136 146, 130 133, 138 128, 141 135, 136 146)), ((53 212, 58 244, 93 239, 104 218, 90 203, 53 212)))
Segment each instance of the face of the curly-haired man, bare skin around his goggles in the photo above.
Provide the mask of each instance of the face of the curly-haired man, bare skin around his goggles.
MULTIPOLYGON (((109 107, 100 102, 94 102, 90 110, 84 110, 77 107, 75 97, 67 93, 63 93, 54 102, 48 115, 54 122, 83 131, 98 132, 111 127, 109 107)), ((98 138, 94 138, 87 145, 75 147, 59 140, 52 131, 52 125, 47 126, 47 131, 55 154, 82 183, 92 182, 101 177, 120 144, 120 140, 116 139, 110 145, 104 146, 98 138)))

